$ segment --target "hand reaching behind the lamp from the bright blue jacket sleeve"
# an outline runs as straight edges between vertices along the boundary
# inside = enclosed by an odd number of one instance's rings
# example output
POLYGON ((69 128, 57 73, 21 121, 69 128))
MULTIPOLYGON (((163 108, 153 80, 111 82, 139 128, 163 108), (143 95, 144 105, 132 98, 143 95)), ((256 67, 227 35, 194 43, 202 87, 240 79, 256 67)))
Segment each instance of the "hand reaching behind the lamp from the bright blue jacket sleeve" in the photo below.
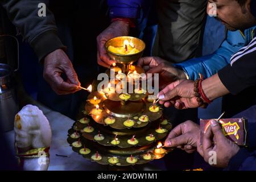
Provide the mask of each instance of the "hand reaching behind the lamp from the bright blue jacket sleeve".
POLYGON ((143 68, 146 74, 158 73, 159 87, 162 89, 171 82, 186 78, 183 70, 173 67, 170 62, 160 57, 142 57, 137 65, 143 68))

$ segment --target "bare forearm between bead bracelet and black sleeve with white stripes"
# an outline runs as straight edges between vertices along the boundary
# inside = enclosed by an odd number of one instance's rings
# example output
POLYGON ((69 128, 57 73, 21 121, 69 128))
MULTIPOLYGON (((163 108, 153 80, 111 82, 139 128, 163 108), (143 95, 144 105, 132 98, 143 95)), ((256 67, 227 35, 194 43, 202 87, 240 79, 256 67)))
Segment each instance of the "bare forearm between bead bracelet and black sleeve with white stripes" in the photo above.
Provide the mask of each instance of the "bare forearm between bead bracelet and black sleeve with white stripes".
POLYGON ((202 82, 202 88, 210 101, 229 93, 229 90, 222 84, 218 74, 204 80, 202 82))

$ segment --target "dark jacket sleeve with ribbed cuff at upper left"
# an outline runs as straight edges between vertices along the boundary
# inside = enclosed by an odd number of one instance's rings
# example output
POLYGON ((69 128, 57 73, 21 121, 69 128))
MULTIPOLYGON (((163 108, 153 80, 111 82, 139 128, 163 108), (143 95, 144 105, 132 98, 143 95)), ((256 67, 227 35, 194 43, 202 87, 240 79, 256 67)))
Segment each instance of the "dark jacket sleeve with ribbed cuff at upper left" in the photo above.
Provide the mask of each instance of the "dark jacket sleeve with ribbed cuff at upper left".
POLYGON ((23 35, 39 60, 58 48, 64 48, 57 36, 55 18, 51 11, 46 10, 46 17, 39 17, 39 3, 46 0, 0 0, 9 19, 23 35))

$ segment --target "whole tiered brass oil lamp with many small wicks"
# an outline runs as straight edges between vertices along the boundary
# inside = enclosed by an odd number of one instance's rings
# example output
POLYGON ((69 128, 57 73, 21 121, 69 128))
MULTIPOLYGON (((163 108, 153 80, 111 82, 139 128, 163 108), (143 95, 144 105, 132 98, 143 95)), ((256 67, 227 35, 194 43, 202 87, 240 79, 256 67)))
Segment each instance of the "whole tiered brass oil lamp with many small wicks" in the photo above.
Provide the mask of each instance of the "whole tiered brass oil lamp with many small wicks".
MULTIPOLYGON (((134 79, 143 73, 132 65, 143 53, 142 40, 123 36, 106 43, 108 55, 117 63, 114 84, 96 90, 94 81, 88 100, 81 106, 77 121, 68 131, 68 143, 85 159, 111 166, 131 166, 163 158, 172 148, 163 148, 163 140, 172 125, 163 118, 162 108, 149 100, 147 90, 135 87, 134 79), (132 81, 133 93, 117 93, 123 76, 132 81), (129 78, 130 77, 130 78, 129 78)), ((106 73, 110 77, 110 69, 106 73)))

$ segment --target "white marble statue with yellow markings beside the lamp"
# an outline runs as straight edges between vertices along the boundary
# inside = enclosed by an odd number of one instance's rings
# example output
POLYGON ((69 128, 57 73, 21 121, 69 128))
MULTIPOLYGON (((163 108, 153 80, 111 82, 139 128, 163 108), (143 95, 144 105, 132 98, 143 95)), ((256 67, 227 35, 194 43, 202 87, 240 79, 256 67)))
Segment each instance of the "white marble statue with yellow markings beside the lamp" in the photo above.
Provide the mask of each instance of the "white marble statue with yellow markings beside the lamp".
POLYGON ((47 170, 52 132, 43 112, 36 106, 24 106, 15 116, 14 131, 17 156, 23 170, 47 170))

